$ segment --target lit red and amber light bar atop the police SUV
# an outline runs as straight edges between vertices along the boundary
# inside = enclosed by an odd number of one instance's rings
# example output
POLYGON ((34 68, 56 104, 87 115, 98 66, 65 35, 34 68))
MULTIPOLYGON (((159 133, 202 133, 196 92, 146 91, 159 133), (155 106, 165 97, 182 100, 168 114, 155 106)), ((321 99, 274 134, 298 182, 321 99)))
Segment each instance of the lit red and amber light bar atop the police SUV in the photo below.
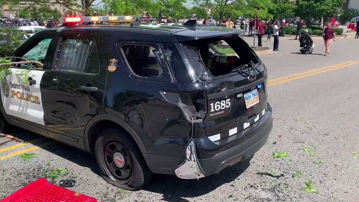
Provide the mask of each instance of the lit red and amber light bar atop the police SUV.
POLYGON ((123 16, 83 16, 83 17, 65 17, 60 18, 60 23, 63 26, 73 26, 78 23, 131 23, 139 22, 140 16, 137 15, 123 15, 123 16))

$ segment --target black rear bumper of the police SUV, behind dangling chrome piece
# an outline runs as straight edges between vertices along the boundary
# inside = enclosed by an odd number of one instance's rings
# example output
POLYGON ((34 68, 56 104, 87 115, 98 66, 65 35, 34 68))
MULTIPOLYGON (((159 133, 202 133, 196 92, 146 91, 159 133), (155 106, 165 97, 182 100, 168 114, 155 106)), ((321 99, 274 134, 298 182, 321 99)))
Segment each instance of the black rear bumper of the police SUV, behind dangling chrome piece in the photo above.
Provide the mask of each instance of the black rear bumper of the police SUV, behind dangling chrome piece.
MULTIPOLYGON (((153 173, 159 174, 176 174, 175 170, 194 170, 195 172, 191 175, 191 178, 186 178, 185 176, 179 176, 183 179, 193 179, 201 178, 203 176, 209 176, 216 173, 219 173, 225 167, 232 166, 239 161, 253 156, 260 148, 267 142, 268 136, 273 127, 273 118, 272 118, 272 109, 269 104, 267 104, 266 113, 260 118, 256 123, 252 124, 250 127, 241 131, 243 136, 234 139, 233 141, 228 141, 227 143, 210 147, 203 148, 204 142, 203 138, 194 139, 194 145, 196 146, 196 152, 189 152, 192 155, 195 155, 191 158, 176 158, 171 156, 159 156, 151 154, 143 154, 146 160, 146 163, 149 169, 153 173), (225 149, 224 149, 225 148, 225 149), (228 149, 227 149, 228 148, 228 149), (199 153, 209 153, 214 154, 210 158, 198 159, 200 157, 199 153), (197 160, 198 159, 198 160, 197 160), (187 166, 184 166, 187 161, 187 166), (188 164, 191 163, 191 164, 188 164), (190 165, 190 166, 188 166, 190 165), (195 169, 190 169, 195 168, 195 169)), ((208 142, 211 142, 208 137, 205 137, 208 142)), ((186 147, 186 157, 188 145, 186 147)), ((192 173, 191 173, 192 174, 192 173)), ((188 173, 187 173, 188 176, 188 173)))

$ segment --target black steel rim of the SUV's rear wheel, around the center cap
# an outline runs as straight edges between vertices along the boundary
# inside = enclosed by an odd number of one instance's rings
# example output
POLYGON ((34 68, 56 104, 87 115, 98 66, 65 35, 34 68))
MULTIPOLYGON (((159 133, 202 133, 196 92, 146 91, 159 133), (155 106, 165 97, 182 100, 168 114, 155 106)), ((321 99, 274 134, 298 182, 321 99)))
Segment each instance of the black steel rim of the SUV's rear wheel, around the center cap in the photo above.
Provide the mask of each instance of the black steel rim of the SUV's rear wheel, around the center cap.
POLYGON ((101 163, 106 174, 113 181, 125 184, 132 176, 133 164, 129 150, 117 139, 107 139, 101 150, 101 163), (114 160, 115 153, 121 153, 124 158, 123 167, 118 167, 114 160))

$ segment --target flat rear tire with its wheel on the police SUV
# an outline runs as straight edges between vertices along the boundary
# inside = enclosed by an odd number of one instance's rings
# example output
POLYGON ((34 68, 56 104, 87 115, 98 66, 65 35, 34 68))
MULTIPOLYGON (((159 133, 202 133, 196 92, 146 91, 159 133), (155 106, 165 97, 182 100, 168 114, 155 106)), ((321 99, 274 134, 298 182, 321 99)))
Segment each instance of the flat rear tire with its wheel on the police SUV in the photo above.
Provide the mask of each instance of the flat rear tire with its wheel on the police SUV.
POLYGON ((103 179, 116 187, 137 191, 150 181, 152 172, 137 144, 120 129, 108 128, 100 133, 95 159, 103 179))

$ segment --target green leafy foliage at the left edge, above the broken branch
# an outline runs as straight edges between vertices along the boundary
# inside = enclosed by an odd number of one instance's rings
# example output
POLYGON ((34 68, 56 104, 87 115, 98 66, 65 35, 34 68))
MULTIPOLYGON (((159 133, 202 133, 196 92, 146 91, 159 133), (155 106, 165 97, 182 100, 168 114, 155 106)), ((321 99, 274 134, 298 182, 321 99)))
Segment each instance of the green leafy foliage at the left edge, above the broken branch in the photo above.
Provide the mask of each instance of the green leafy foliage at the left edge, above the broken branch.
POLYGON ((27 34, 14 27, 0 27, 0 33, 0 41, 7 41, 0 46, 0 57, 9 56, 27 37, 27 34))

